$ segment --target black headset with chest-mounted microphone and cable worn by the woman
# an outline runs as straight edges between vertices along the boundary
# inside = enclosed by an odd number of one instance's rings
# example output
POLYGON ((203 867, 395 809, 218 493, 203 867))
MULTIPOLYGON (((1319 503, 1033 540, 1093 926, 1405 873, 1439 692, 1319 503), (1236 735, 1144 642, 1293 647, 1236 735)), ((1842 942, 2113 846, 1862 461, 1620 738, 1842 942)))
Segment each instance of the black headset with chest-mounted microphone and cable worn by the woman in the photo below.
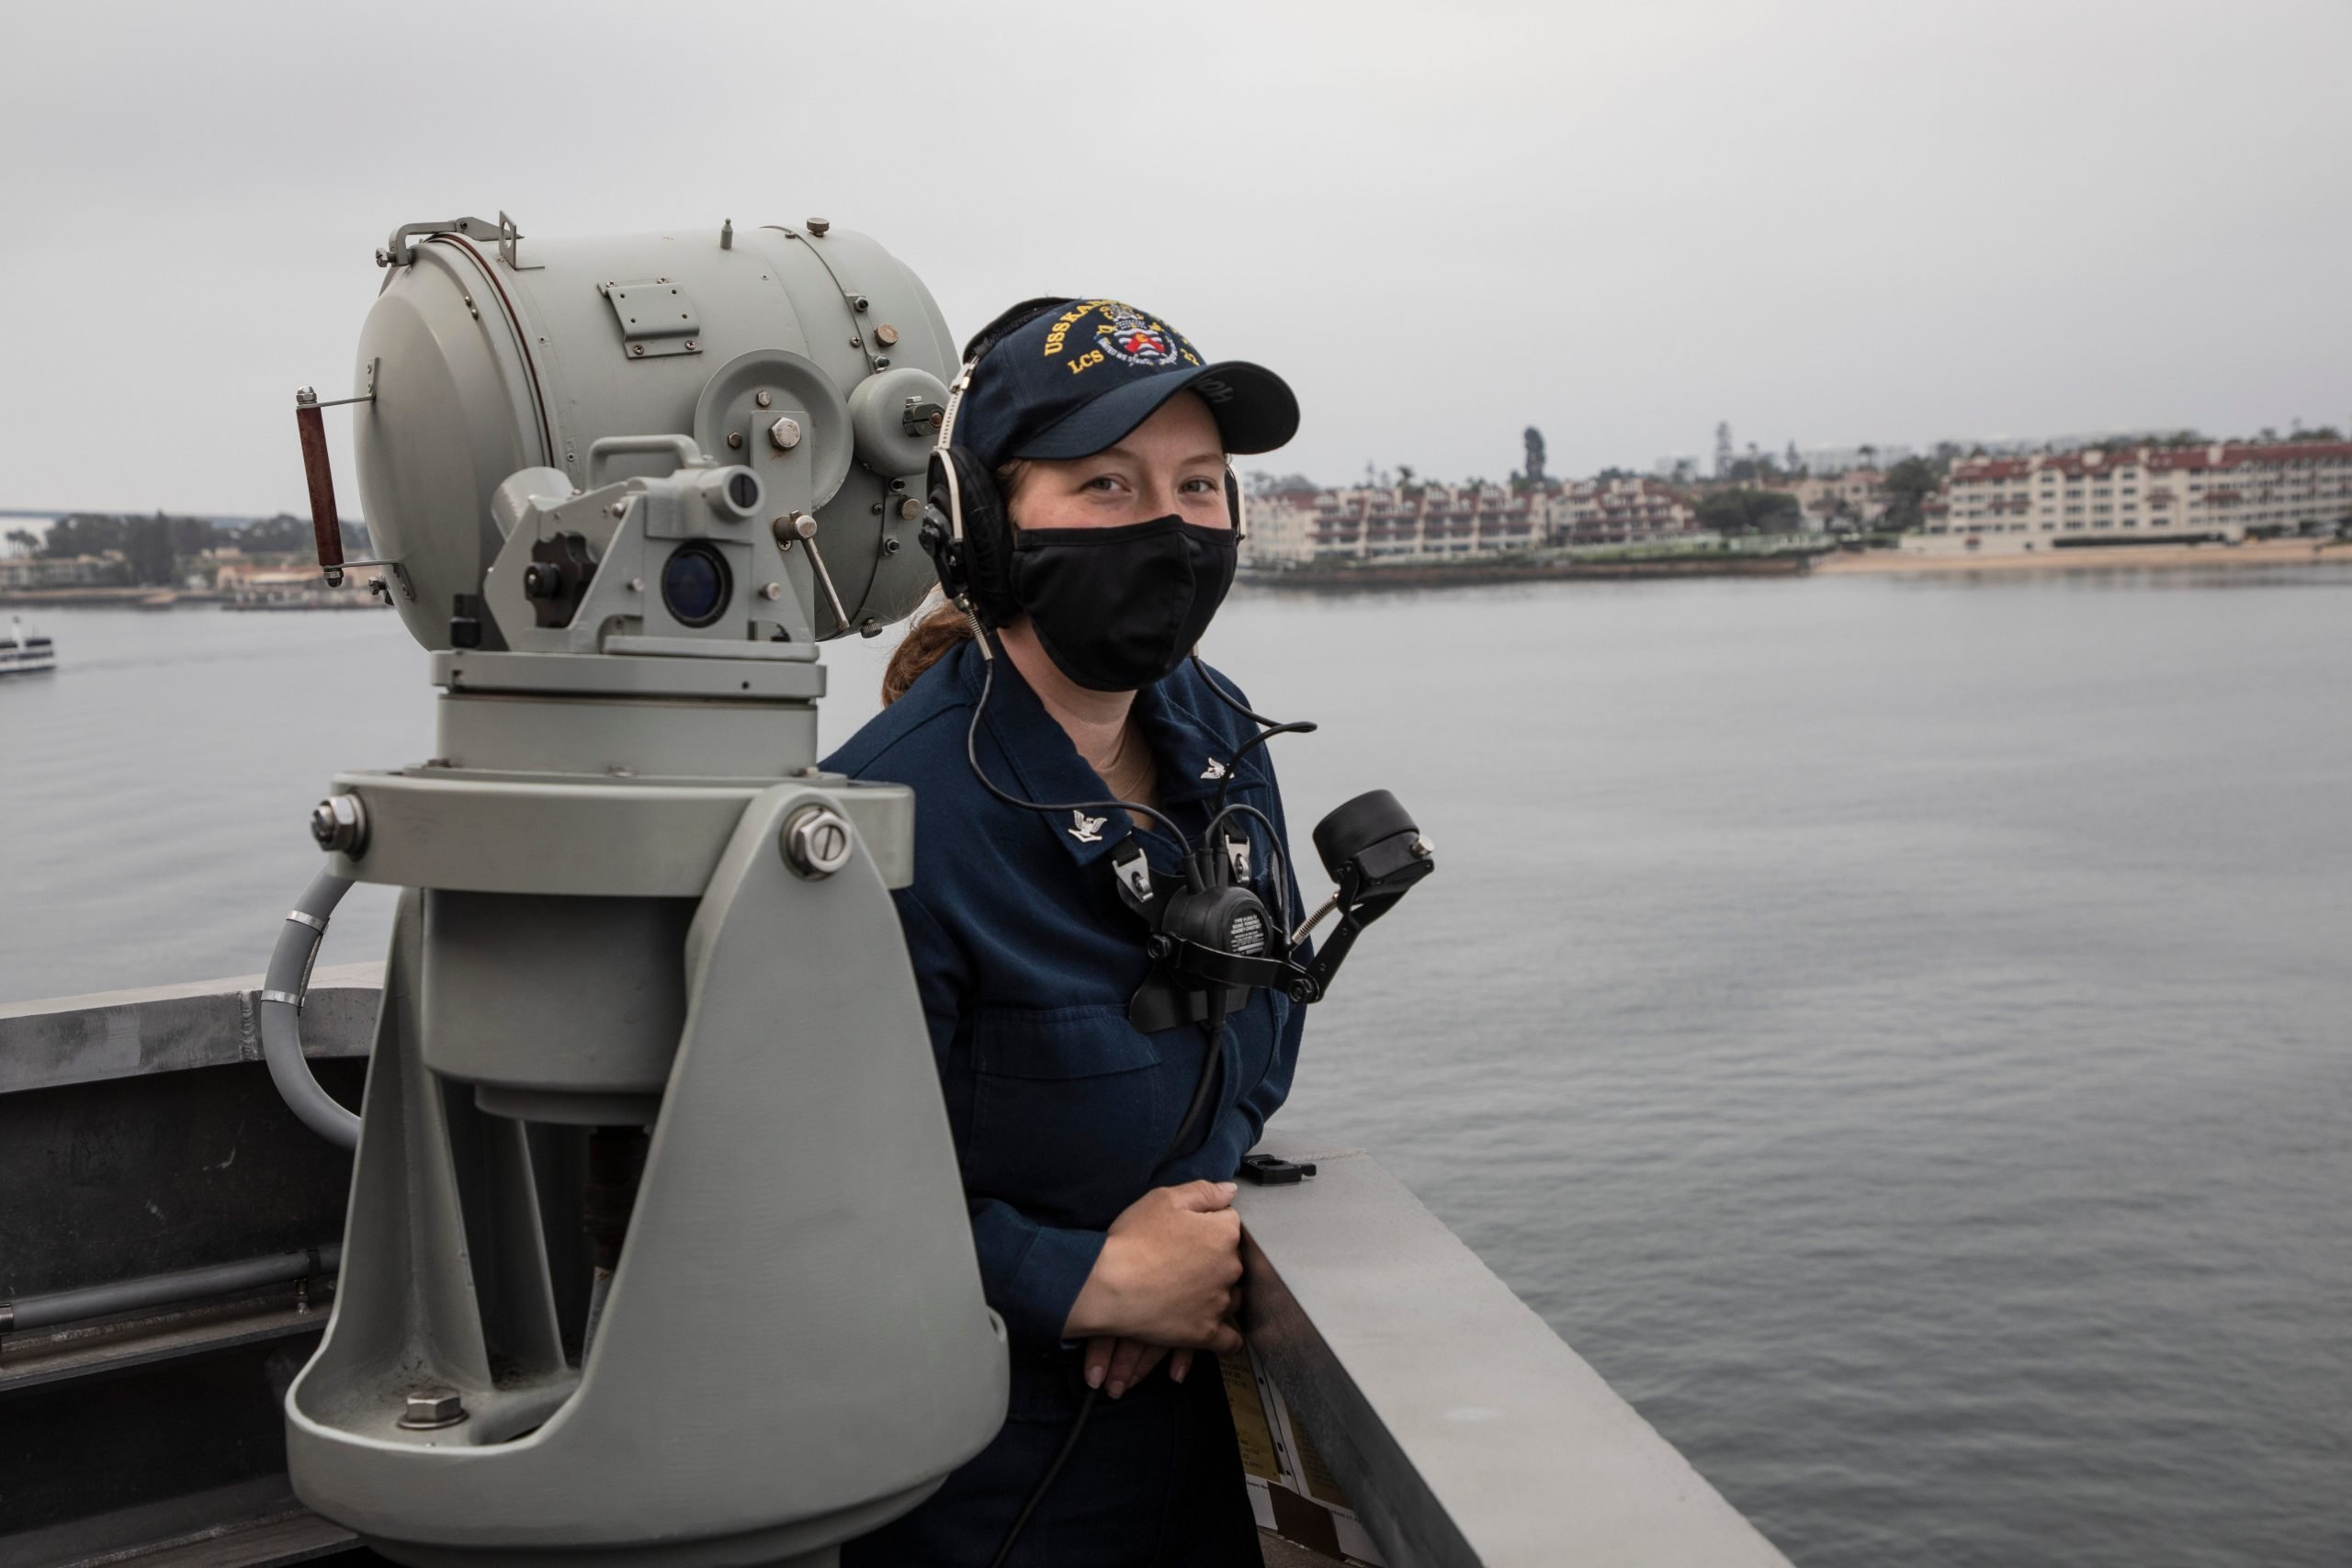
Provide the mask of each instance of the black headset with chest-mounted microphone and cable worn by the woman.
MULTIPOLYGON (((1181 877, 1155 872, 1143 846, 1134 839, 1120 853, 1110 856, 1120 900, 1148 931, 1143 950, 1150 957, 1150 971, 1129 1001, 1129 1020, 1143 1032, 1200 1023, 1209 1046, 1176 1135, 1152 1161, 1152 1171, 1157 1171, 1169 1159, 1190 1152, 1204 1133, 1209 1105, 1214 1103, 1211 1088, 1223 1063, 1225 1018, 1235 1009, 1247 1006, 1254 990, 1279 990, 1298 1004, 1319 1001, 1331 985, 1331 973, 1355 943, 1357 931, 1385 914, 1414 882, 1435 870, 1435 860, 1430 842, 1421 837, 1421 830, 1414 827, 1395 795, 1388 790, 1359 795, 1317 823, 1315 849, 1338 886, 1310 919, 1294 926, 1289 907, 1291 877, 1282 835, 1275 832, 1272 818, 1256 806, 1242 802, 1228 804, 1228 792, 1240 776, 1240 762, 1247 752, 1282 733, 1312 733, 1315 724, 1279 724, 1251 712, 1237 696, 1225 691, 1225 684, 1209 672, 1197 651, 1192 654, 1192 670, 1207 684, 1209 693, 1258 726, 1258 733, 1235 748, 1235 755, 1228 759, 1216 806, 1197 844, 1164 811, 1143 802, 1087 799, 1047 804, 1011 795, 988 778, 988 769, 981 766, 981 715, 988 710, 988 696, 995 691, 997 677, 995 628, 1021 614, 1021 602, 1011 588, 1016 529, 997 489, 995 473, 969 449, 955 447, 955 416, 964 402, 964 393, 971 390, 974 371, 997 343, 1047 310, 1073 303, 1080 301, 1065 296, 1025 299, 981 327, 964 346, 964 362, 948 388, 948 402, 938 416, 938 442, 931 447, 924 473, 927 503, 917 538, 938 571, 941 592, 971 623, 971 635, 978 642, 981 696, 971 705, 971 724, 964 731, 964 759, 971 764, 971 776, 981 780, 981 788, 1007 806, 1040 816, 1129 811, 1164 827, 1183 849, 1181 877), (1251 886, 1247 837, 1235 839, 1223 832, 1225 823, 1237 818, 1256 818, 1265 830, 1265 870, 1275 893, 1272 910, 1265 907, 1265 898, 1251 886), (1338 929, 1312 961, 1301 964, 1296 959, 1301 945, 1334 912, 1341 917, 1338 929)), ((1242 484, 1232 473, 1232 463, 1225 463, 1225 510, 1232 517, 1240 543, 1247 534, 1242 531, 1242 484)), ((1070 1453, 1077 1448, 1077 1439, 1087 1429, 1087 1415, 1094 1413, 1094 1401, 1096 1389, 1087 1389, 1080 1396, 1077 1415, 1070 1420, 1070 1432, 1061 1450, 1004 1533, 1004 1542, 997 1547, 990 1568, 1002 1568, 1007 1556, 1011 1556, 1014 1542, 1021 1540, 1030 1514, 1044 1500, 1047 1490, 1051 1490, 1070 1453)))

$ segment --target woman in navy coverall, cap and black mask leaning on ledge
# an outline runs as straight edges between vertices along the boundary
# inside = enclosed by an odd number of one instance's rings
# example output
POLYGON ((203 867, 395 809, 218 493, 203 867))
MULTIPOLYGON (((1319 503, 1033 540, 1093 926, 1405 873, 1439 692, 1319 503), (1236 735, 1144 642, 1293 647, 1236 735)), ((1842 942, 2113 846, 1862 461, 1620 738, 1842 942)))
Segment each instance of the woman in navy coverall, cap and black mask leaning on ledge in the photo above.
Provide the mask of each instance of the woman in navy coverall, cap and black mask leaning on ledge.
MULTIPOLYGON (((1117 301, 1030 301, 967 350, 950 425, 967 494, 936 498, 962 529, 927 545, 971 614, 938 604, 908 630, 889 705, 826 766, 915 788, 898 914, 1011 1406, 929 1502, 851 1542, 849 1568, 993 1563, 1030 1505, 1007 1563, 1258 1563, 1211 1354, 1240 1352, 1228 1178, 1289 1091, 1301 1011, 1251 992, 1214 1044, 1197 1013, 1131 1023, 1148 926, 1117 865, 1141 844, 1181 877, 1221 792, 1282 832, 1265 748, 1242 750, 1258 726, 1188 656, 1232 581, 1225 456, 1296 423, 1275 374, 1207 364, 1117 301)), ((1270 903, 1296 910, 1284 846, 1242 820, 1218 837, 1247 839, 1261 884, 1284 879, 1270 903)))

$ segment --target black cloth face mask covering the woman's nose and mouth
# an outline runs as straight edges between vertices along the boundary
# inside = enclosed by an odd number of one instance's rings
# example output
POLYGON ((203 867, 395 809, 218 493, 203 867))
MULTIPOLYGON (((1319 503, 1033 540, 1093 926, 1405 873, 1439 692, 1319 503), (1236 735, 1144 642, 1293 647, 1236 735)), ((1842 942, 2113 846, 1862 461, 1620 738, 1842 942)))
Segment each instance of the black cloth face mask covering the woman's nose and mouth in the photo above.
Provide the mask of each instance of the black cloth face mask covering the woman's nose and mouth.
POLYGON ((1176 670, 1232 588, 1232 529, 1155 517, 1117 529, 1021 529, 1014 599, 1054 668, 1089 691, 1176 670))

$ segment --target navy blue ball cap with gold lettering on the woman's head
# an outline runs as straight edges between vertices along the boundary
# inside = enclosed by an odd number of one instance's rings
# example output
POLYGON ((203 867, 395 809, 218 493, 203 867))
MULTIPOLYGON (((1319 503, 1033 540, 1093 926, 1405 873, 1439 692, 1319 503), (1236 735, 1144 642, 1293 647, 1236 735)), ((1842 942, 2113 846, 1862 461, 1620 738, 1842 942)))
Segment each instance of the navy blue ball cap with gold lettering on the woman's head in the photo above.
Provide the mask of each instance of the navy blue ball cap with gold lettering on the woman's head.
POLYGON ((1202 360, 1181 331, 1115 299, 1025 301, 974 346, 955 444, 990 468, 1101 451, 1183 390, 1209 404, 1225 451, 1272 451, 1298 433, 1298 397, 1282 376, 1202 360))

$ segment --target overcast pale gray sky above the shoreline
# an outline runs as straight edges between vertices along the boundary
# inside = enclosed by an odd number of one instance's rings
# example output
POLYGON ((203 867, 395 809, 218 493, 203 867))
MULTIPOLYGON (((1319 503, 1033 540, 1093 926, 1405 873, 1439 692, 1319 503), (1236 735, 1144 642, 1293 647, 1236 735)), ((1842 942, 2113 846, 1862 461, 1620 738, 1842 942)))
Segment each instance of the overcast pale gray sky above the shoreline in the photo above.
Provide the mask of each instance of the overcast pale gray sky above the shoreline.
POLYGON ((2352 423, 2343 0, 7 14, 0 508, 303 510, 374 249, 501 209, 1122 296, 1331 484, 2352 423))

